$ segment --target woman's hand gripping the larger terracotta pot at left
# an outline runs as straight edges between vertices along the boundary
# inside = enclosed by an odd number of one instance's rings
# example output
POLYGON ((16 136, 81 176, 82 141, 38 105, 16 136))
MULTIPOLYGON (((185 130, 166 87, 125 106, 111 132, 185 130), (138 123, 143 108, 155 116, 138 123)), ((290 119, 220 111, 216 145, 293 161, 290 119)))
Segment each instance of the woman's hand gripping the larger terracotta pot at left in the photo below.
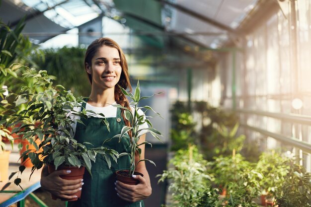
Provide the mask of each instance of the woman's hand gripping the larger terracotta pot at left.
POLYGON ((47 166, 44 166, 41 173, 41 187, 58 198, 77 198, 73 194, 82 190, 83 179, 65 180, 60 177, 60 175, 68 175, 70 173, 70 170, 57 170, 49 174, 47 166))

